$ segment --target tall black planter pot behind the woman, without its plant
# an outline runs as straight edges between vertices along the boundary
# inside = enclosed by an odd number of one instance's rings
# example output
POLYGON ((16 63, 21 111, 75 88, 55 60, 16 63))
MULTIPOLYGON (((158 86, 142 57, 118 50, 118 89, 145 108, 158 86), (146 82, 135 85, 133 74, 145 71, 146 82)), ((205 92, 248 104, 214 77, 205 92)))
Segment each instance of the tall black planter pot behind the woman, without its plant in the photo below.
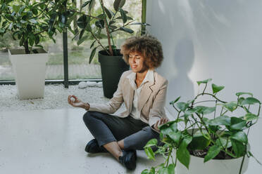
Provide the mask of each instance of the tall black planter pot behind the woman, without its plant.
POLYGON ((101 75, 103 79, 103 90, 106 98, 112 98, 113 93, 118 88, 118 82, 123 72, 130 69, 123 60, 120 50, 116 50, 117 55, 111 56, 106 51, 99 51, 99 62, 101 65, 101 75))

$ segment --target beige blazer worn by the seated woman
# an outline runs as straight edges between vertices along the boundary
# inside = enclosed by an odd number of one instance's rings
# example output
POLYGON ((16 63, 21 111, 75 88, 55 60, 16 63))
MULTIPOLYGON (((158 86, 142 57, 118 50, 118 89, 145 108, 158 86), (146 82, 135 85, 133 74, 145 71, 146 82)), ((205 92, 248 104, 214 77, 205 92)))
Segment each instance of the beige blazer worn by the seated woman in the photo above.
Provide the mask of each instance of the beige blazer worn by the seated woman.
MULTIPOLYGON (((124 102, 126 110, 118 116, 122 118, 129 116, 132 111, 135 92, 129 79, 127 79, 130 73, 132 73, 132 70, 122 74, 118 83, 118 89, 109 102, 105 104, 90 103, 89 111, 113 114, 124 102)), ((145 123, 149 123, 149 126, 153 126, 161 117, 167 118, 164 109, 167 86, 168 81, 157 72, 154 72, 154 82, 149 81, 142 86, 142 91, 138 98, 138 109, 141 113, 140 119, 145 123)))

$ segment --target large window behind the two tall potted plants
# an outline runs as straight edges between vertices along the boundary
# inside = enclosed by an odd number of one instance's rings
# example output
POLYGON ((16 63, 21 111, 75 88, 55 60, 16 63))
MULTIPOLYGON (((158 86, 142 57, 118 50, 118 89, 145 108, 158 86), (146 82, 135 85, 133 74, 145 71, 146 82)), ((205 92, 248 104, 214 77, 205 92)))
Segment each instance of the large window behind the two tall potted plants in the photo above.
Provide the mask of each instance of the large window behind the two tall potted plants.
MULTIPOLYGON (((106 8, 113 10, 113 1, 106 0, 104 5, 106 8)), ((77 0, 77 8, 85 3, 85 0, 77 0)), ((123 10, 128 11, 127 15, 133 18, 135 22, 141 22, 142 16, 142 0, 141 1, 126 1, 123 10)), ((92 13, 99 15, 101 9, 98 1, 94 6, 92 13)), ((78 18, 79 16, 77 16, 78 18)), ((76 19, 77 19, 76 18, 76 19)), ((72 22, 72 27, 74 22, 72 22)), ((123 41, 130 36, 137 34, 139 25, 130 26, 135 32, 128 34, 126 32, 118 31, 113 34, 116 41, 116 46, 120 48, 123 41)), ((68 31, 68 75, 69 79, 101 79, 101 69, 97 58, 97 53, 94 55, 92 63, 89 64, 89 55, 91 53, 90 45, 93 40, 87 39, 79 46, 77 39, 73 39, 73 34, 68 31)), ((107 39, 101 39, 101 43, 106 45, 107 39)), ((64 78, 64 64, 63 64, 63 34, 56 35, 56 44, 54 44, 48 36, 44 41, 44 48, 49 53, 49 61, 46 64, 46 79, 63 79, 64 78)), ((8 48, 18 48, 18 41, 14 41, 10 34, 0 36, 0 83, 5 80, 14 80, 11 62, 8 58, 8 48)))

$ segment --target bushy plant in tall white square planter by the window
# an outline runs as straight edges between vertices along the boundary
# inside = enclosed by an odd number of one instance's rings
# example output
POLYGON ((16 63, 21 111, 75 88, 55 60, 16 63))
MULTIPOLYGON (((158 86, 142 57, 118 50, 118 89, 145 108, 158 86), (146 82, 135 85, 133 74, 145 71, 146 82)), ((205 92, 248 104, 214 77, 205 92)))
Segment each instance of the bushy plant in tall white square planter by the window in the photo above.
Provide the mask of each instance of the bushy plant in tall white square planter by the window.
POLYGON ((43 98, 48 54, 40 42, 49 36, 54 42, 56 30, 68 27, 68 11, 58 11, 61 1, 1 0, 0 35, 11 33, 23 49, 9 49, 15 84, 20 99, 43 98))

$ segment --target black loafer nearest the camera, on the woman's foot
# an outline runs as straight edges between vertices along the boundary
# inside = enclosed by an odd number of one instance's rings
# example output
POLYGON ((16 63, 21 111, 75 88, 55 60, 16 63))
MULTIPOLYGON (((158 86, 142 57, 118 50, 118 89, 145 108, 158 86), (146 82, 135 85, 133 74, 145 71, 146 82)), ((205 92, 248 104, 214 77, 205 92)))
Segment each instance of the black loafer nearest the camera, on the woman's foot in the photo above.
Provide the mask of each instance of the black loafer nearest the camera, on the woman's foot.
POLYGON ((135 170, 137 166, 137 152, 135 150, 123 150, 123 156, 119 156, 119 162, 129 170, 135 170))

